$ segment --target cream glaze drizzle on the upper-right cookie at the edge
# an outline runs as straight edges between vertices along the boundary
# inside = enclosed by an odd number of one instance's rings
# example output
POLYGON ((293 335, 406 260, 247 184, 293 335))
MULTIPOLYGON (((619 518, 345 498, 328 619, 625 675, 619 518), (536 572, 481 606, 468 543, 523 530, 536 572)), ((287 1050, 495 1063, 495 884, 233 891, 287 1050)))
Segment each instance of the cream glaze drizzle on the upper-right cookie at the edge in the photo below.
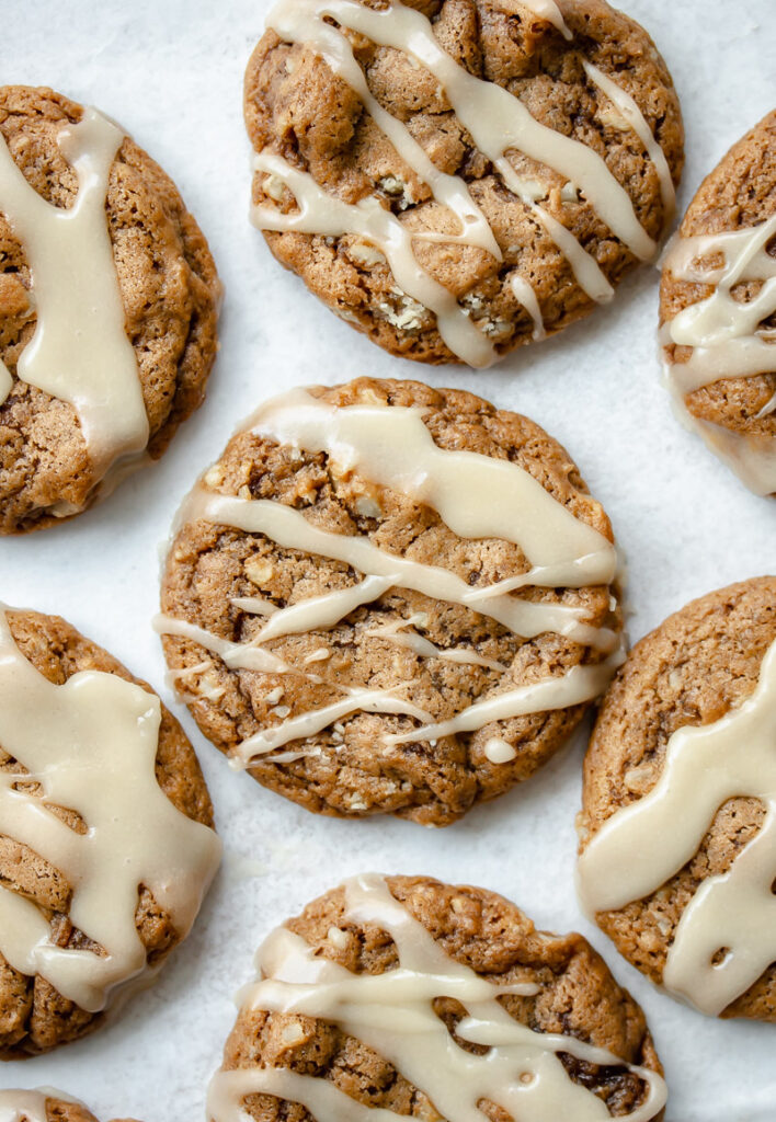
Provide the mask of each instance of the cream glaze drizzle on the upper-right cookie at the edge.
POLYGON ((748 378, 776 371, 776 346, 763 320, 776 311, 776 258, 766 246, 776 237, 776 214, 742 230, 677 237, 663 261, 664 273, 678 280, 714 285, 704 300, 684 307, 660 330, 665 373, 674 407, 683 424, 703 436, 756 494, 776 491, 776 440, 733 432, 693 416, 686 397, 725 378, 748 378), (713 264, 719 258, 722 264, 713 264), (704 266, 704 258, 712 264, 704 266), (743 282, 760 282, 757 295, 742 302, 732 295, 743 282), (668 348, 692 347, 685 361, 674 361, 668 348))

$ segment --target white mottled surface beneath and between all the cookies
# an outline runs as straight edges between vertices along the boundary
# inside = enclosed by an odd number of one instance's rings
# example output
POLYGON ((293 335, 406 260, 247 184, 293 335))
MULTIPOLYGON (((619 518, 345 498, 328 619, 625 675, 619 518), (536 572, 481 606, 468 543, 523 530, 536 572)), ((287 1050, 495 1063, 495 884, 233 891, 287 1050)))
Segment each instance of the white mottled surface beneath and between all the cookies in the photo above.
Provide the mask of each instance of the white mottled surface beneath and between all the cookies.
MULTIPOLYGON (((226 283, 208 401, 161 462, 58 530, 0 541, 0 597, 55 611, 148 678, 202 760, 227 847, 189 941, 116 1024, 58 1055, 0 1067, 0 1087, 54 1085, 106 1120, 203 1118, 231 995, 259 939, 350 873, 426 872, 511 896, 544 927, 578 928, 642 1002, 670 1085, 669 1122, 775 1116, 773 1026, 718 1023, 631 969, 583 919, 573 885, 582 738, 542 774, 444 830, 318 819, 234 774, 164 686, 149 619, 158 546, 194 476, 271 392, 360 374, 474 389, 562 440, 609 511, 629 562, 636 638, 710 589, 773 571, 776 508, 749 495, 673 419, 659 386, 657 274, 495 370, 423 369, 383 355, 284 273, 247 224, 243 70, 266 0, 2 3, 2 81, 48 84, 120 120, 177 182, 226 283), (246 876, 239 857, 256 862, 246 876)), ((729 145, 776 103, 773 0, 628 0, 674 74, 687 131, 682 209, 729 145)), ((570 1122, 570 1120, 569 1120, 570 1122)))

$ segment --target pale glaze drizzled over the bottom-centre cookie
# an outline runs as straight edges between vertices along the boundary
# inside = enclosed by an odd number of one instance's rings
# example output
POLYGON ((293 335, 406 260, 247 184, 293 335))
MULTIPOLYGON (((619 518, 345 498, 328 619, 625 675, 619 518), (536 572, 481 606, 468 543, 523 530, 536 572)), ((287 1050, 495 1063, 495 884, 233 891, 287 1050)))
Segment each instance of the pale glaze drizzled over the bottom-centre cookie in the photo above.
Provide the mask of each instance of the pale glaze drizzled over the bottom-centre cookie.
MULTIPOLYGON (((241 994, 243 1008, 334 1021, 392 1064, 448 1122, 484 1122, 478 1106, 483 1100, 520 1122, 610 1119, 605 1104, 569 1078, 558 1052, 591 1064, 629 1066, 574 1037, 532 1032, 496 1000, 501 994, 535 994, 536 985, 494 985, 450 958, 381 876, 347 882, 348 921, 386 931, 396 945, 399 966, 377 975, 354 974, 314 956, 300 936, 279 928, 257 955, 258 981, 241 994), (485 1055, 456 1043, 433 1012, 436 997, 455 997, 464 1005, 467 1015, 456 1033, 487 1046, 485 1055)), ((629 1069, 643 1080, 645 1101, 623 1119, 648 1122, 666 1101, 665 1083, 654 1072, 629 1069)), ((403 1116, 363 1105, 328 1079, 252 1067, 216 1074, 208 1095, 211 1122, 238 1122, 249 1094, 301 1103, 317 1122, 396 1122, 403 1116)))

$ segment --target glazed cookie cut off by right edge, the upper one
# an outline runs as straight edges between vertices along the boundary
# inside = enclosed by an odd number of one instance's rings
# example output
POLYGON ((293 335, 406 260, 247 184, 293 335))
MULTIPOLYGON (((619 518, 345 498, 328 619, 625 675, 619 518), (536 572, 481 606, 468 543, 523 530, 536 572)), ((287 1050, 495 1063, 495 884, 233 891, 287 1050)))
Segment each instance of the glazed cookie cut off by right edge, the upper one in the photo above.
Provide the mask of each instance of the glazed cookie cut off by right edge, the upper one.
POLYGON ((660 341, 682 422, 776 493, 776 110, 701 184, 663 263, 660 341))

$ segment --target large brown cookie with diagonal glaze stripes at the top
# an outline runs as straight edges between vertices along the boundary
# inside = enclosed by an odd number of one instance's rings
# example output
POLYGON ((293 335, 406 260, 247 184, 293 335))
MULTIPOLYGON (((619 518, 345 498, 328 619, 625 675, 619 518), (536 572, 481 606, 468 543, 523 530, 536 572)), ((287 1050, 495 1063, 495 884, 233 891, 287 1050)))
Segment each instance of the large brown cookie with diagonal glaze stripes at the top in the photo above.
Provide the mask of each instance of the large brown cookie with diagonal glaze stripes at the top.
POLYGON ((280 0, 245 80, 253 222, 392 355, 487 366, 651 260, 676 92, 604 0, 280 0))

